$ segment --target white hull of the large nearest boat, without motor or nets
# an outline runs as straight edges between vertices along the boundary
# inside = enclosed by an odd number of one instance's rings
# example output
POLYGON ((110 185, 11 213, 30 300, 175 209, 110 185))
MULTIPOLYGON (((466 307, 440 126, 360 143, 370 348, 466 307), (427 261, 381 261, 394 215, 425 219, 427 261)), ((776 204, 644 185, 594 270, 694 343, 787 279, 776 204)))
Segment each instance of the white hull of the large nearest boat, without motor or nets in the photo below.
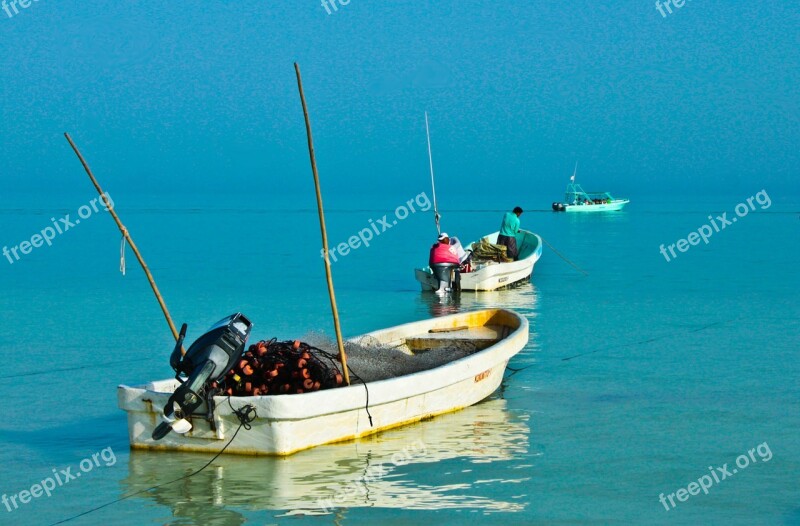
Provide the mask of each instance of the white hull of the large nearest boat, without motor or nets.
MULTIPOLYGON (((489 309, 425 320, 364 335, 385 346, 429 335, 430 329, 502 326, 509 334, 495 344, 427 371, 371 382, 369 416, 363 384, 294 395, 237 397, 234 408, 255 407, 258 417, 241 430, 226 453, 290 455, 330 442, 349 440, 473 405, 492 394, 503 379, 508 360, 528 341, 527 320, 513 311, 489 309)), ((431 336, 427 336, 431 337, 431 336)), ((353 339, 352 341, 358 341, 353 339)), ((225 397, 216 397, 211 422, 190 418, 192 429, 154 441, 151 433, 161 410, 177 387, 176 380, 118 388, 119 407, 128 412, 132 448, 217 452, 227 444, 239 421, 225 397)))

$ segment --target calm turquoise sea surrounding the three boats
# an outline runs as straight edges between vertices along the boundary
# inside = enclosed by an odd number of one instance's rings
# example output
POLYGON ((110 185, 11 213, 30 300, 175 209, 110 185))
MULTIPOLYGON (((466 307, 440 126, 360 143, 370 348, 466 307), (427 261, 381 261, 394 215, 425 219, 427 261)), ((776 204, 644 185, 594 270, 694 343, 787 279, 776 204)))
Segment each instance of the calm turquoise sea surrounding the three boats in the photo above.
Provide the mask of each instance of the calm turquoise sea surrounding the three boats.
MULTIPOLYGON (((531 283, 440 300, 413 277, 435 237, 431 213, 409 213, 334 263, 342 327, 354 336, 513 308, 531 337, 502 388, 358 442, 222 457, 149 491, 210 456, 129 452, 116 387, 169 377, 171 336, 130 250, 119 273, 110 216, 86 217, 52 246, 0 258, 0 493, 16 499, 0 503, 0 523, 51 524, 140 492, 71 524, 800 524, 796 196, 756 203, 669 262, 659 252, 709 215, 735 217, 759 190, 640 197, 597 216, 545 210, 557 194, 489 206, 440 196, 444 228, 464 241, 530 203, 540 210, 523 227, 588 275, 545 247, 531 283), (20 495, 64 471, 80 477, 20 495), (329 500, 340 507, 326 512, 329 500)), ((236 311, 259 339, 332 332, 313 198, 111 195, 189 338, 236 311)), ((4 197, 0 245, 30 240, 50 218, 74 222, 93 197, 4 197)), ((384 214, 392 224, 414 198, 328 199, 331 244, 384 214)))

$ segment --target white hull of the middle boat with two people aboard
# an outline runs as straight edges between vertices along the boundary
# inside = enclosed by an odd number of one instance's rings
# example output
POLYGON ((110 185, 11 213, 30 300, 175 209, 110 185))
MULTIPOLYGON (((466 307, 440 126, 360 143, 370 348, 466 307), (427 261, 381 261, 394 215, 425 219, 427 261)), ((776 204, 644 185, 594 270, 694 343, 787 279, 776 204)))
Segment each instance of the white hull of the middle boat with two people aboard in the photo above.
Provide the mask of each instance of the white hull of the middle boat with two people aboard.
MULTIPOLYGON (((496 243, 498 234, 499 232, 494 232, 485 238, 490 243, 496 243)), ((461 290, 496 290, 530 278, 534 265, 542 257, 542 238, 526 230, 522 230, 521 234, 521 242, 519 240, 517 242, 520 253, 523 252, 525 243, 530 243, 534 247, 526 257, 509 263, 493 263, 473 272, 462 273, 461 290)), ((473 244, 467 248, 471 248, 473 244)), ((430 267, 414 269, 414 276, 422 286, 422 290, 438 290, 439 280, 433 275, 430 267)))

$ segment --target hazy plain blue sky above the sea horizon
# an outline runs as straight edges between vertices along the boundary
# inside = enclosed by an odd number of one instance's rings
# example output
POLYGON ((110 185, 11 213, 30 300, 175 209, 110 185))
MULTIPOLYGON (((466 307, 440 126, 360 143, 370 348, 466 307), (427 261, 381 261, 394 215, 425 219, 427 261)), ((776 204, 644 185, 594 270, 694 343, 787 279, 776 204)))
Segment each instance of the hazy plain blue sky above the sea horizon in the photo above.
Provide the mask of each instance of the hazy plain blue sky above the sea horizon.
POLYGON ((775 1, 39 0, 0 11, 0 176, 86 190, 70 131, 116 196, 307 192, 298 61, 334 200, 428 189, 425 110, 444 195, 546 207, 576 160, 634 197, 796 195, 798 27, 775 1))

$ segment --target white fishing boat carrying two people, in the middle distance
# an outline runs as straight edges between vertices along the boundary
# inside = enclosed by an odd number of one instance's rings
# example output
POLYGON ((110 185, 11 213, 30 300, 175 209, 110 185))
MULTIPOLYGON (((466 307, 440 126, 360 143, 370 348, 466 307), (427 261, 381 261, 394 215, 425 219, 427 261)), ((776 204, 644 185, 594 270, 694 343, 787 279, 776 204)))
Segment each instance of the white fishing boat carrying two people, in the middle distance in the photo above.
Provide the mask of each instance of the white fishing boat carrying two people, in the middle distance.
MULTIPOLYGON (((499 232, 485 236, 485 242, 497 243, 499 232)), ((461 273, 461 290, 487 291, 507 287, 530 278, 533 266, 542 257, 542 238, 533 232, 520 230, 517 235, 519 259, 517 261, 498 262, 493 260, 473 259, 470 272, 461 273)), ((481 240, 470 243, 467 250, 475 250, 481 240)), ((435 265, 414 270, 422 290, 445 291, 451 288, 451 272, 455 265, 435 265)))

